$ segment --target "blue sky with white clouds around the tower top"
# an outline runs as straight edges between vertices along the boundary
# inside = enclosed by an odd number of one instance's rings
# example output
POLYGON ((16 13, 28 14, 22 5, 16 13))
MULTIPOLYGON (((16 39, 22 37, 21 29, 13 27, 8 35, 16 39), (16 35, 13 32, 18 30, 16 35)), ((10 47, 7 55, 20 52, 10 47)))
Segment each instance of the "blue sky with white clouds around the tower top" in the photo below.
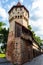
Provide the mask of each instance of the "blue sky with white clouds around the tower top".
MULTIPOLYGON (((19 0, 29 11, 29 25, 43 39, 43 0, 19 0)), ((0 0, 0 21, 9 27, 8 11, 18 0, 0 0)))

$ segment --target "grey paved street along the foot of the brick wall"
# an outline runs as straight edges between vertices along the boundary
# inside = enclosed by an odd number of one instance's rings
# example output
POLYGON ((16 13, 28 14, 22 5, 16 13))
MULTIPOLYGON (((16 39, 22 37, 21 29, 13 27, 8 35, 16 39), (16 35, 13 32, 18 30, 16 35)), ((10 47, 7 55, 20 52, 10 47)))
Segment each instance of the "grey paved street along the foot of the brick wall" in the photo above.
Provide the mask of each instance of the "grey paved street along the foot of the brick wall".
POLYGON ((31 62, 27 62, 23 65, 43 65, 43 55, 34 58, 31 62))

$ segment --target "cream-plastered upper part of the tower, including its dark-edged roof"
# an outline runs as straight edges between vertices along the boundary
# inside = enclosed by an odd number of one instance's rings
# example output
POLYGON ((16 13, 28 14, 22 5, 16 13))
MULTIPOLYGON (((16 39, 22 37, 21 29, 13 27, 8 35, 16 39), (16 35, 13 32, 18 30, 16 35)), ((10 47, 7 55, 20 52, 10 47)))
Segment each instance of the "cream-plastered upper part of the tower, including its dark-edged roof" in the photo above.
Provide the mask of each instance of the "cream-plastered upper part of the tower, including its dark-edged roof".
POLYGON ((20 2, 17 5, 13 6, 9 11, 9 23, 10 23, 10 31, 12 28, 14 29, 14 23, 20 23, 21 25, 28 28, 28 18, 29 11, 25 8, 24 5, 21 5, 20 2))

